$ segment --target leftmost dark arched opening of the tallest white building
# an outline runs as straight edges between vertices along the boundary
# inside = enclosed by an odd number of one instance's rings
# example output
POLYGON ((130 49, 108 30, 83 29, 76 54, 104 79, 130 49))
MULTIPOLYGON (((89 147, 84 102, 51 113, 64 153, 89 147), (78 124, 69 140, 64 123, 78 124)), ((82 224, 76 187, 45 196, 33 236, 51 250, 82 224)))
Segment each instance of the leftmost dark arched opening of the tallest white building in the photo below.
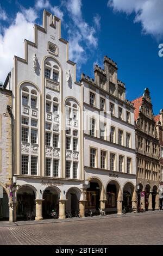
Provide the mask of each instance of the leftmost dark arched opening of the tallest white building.
POLYGON ((17 192, 16 220, 35 220, 36 192, 30 186, 22 186, 17 192))

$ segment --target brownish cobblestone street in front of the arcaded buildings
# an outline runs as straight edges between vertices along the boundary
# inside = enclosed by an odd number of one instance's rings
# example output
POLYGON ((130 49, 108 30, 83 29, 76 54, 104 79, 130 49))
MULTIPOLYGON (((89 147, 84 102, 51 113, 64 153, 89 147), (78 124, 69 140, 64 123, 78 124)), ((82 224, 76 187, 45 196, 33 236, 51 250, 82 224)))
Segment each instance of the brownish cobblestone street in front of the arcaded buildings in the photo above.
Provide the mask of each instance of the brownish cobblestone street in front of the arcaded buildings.
POLYGON ((0 227, 0 245, 163 245, 162 230, 163 212, 45 224, 28 222, 0 227))

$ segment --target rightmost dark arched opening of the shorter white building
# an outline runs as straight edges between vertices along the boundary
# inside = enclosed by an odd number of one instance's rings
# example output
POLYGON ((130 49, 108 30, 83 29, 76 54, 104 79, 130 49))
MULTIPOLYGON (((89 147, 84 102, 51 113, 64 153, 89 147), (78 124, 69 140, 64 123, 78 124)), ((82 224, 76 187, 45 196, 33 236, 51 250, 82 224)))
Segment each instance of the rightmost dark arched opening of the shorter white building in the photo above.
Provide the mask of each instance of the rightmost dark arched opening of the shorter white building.
MULTIPOLYGON (((133 192, 134 192, 134 185, 130 182, 127 182, 123 187, 123 204, 122 209, 125 208, 126 212, 132 208, 132 201, 133 201, 133 192)), ((136 198, 134 198, 136 200, 136 198)))

